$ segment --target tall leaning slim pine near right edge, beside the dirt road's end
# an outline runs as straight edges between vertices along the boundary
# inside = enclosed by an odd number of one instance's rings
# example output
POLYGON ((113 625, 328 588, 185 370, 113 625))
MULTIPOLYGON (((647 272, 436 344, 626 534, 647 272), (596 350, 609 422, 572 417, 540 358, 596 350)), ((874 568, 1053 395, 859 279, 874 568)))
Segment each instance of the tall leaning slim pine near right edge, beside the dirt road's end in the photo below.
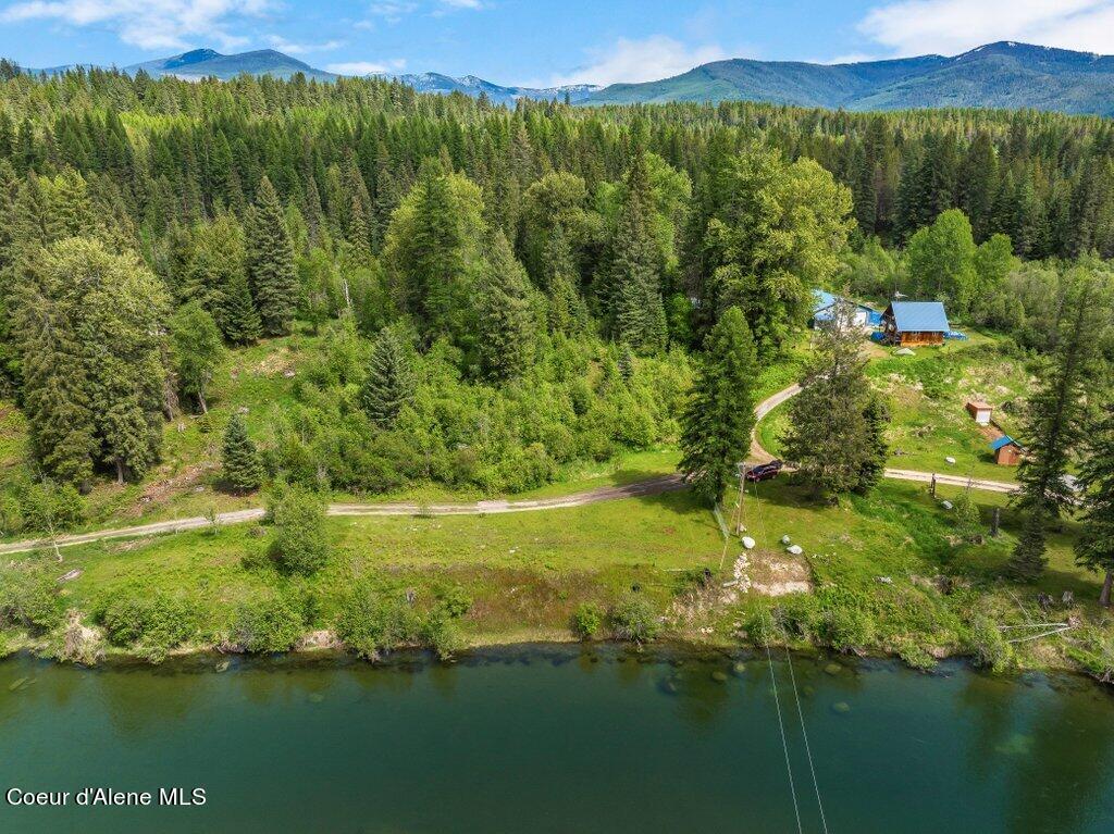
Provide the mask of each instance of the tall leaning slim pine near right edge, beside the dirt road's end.
POLYGON ((1045 363, 1040 389, 1029 400, 1023 428, 1027 453, 1017 472, 1022 488, 1016 503, 1026 521, 1008 566, 1010 575, 1023 580, 1044 571, 1047 523, 1071 509, 1076 498, 1065 475, 1084 439, 1086 396, 1103 326, 1094 276, 1076 267, 1065 281, 1071 287, 1065 301, 1068 315, 1059 323, 1054 356, 1045 363))

